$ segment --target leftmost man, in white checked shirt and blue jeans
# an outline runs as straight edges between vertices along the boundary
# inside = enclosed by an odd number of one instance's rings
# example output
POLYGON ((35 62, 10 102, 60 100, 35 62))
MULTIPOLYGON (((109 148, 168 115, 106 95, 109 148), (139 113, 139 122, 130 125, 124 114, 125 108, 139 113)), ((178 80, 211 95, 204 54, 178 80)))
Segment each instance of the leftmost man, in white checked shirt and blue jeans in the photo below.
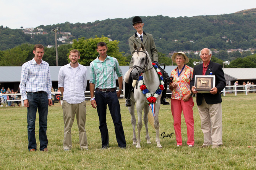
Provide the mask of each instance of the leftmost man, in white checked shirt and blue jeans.
POLYGON ((35 126, 38 109, 40 151, 47 152, 47 115, 48 105, 52 105, 52 79, 49 64, 42 60, 44 46, 36 44, 33 53, 35 57, 22 65, 19 89, 21 100, 28 108, 28 149, 36 151, 35 126))

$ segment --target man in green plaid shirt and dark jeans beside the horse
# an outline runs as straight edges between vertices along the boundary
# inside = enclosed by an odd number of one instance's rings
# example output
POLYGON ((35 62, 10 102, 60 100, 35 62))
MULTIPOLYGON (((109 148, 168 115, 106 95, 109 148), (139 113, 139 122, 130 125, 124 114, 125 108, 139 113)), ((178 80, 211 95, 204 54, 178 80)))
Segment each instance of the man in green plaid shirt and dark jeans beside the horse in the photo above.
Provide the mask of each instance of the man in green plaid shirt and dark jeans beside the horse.
POLYGON ((118 147, 126 148, 125 133, 121 121, 120 104, 118 97, 122 92, 123 73, 114 57, 107 56, 107 44, 97 44, 99 56, 90 64, 90 93, 91 105, 97 108, 102 149, 109 147, 109 132, 107 129, 107 105, 115 125, 115 135, 118 147), (118 76, 119 91, 116 92, 115 73, 118 76), (94 98, 95 89, 95 98, 94 98))

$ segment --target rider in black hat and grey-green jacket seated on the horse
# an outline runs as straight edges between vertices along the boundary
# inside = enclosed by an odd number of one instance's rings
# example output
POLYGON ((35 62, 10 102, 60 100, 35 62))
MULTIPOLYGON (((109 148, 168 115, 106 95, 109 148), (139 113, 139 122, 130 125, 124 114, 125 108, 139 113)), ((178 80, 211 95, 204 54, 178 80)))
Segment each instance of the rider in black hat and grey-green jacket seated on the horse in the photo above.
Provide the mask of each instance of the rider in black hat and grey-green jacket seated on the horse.
MULTIPOLYGON (((158 54, 156 49, 156 44, 154 41, 154 38, 151 34, 143 32, 143 26, 144 23, 142 22, 141 17, 135 16, 133 17, 133 28, 136 29, 136 32, 133 36, 129 38, 129 46, 131 55, 133 56, 135 50, 133 49, 133 43, 135 42, 137 46, 140 46, 141 43, 143 43, 144 47, 146 48, 146 51, 149 54, 149 57, 152 62, 154 62, 156 65, 158 65, 158 54)), ((131 106, 131 89, 132 87, 132 78, 130 76, 131 70, 133 67, 133 60, 130 62, 129 71, 127 73, 127 76, 125 77, 125 106, 131 106)), ((164 90, 162 91, 162 97, 161 97, 161 104, 163 105, 170 105, 169 102, 165 100, 166 98, 166 90, 167 90, 167 84, 164 86, 164 90)))

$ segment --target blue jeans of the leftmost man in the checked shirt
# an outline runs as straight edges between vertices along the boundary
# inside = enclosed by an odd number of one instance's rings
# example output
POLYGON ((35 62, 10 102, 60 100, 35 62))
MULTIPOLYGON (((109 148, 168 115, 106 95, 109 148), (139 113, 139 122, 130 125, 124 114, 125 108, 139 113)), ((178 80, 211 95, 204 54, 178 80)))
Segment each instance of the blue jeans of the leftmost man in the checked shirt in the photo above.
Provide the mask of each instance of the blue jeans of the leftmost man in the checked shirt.
POLYGON ((48 95, 45 92, 31 93, 28 92, 28 150, 36 149, 36 112, 39 114, 39 141, 40 150, 47 148, 48 139, 47 130, 47 115, 48 115, 48 95))

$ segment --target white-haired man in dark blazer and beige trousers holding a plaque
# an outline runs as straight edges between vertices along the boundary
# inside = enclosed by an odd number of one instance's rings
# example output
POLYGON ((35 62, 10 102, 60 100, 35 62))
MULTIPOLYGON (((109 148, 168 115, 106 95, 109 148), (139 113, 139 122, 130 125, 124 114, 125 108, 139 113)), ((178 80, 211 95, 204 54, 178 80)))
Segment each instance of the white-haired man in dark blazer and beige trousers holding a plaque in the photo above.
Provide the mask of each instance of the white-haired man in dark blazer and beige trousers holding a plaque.
POLYGON ((219 148, 223 144, 220 92, 225 88, 226 80, 222 66, 211 61, 212 52, 210 49, 202 49, 199 55, 203 63, 194 67, 190 88, 193 94, 197 94, 196 104, 201 118, 201 130, 204 133, 204 144, 201 147, 205 148, 212 145, 212 148, 219 148), (209 93, 196 91, 195 75, 215 75, 215 87, 209 93))

